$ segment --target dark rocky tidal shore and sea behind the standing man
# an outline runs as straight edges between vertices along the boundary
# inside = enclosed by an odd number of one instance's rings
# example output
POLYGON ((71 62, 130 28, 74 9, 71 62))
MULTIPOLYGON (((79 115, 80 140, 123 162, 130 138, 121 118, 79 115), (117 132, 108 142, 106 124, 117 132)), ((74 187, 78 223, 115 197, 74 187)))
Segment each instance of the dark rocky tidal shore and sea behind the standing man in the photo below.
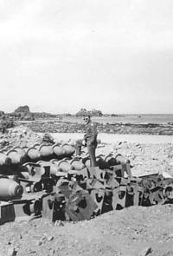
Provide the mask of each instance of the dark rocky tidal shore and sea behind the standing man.
MULTIPOLYGON (((125 117, 92 117, 97 122, 99 133, 112 135, 173 135, 173 115, 125 117)), ((82 117, 66 116, 62 119, 37 119, 18 121, 37 133, 80 133, 84 131, 82 117)))

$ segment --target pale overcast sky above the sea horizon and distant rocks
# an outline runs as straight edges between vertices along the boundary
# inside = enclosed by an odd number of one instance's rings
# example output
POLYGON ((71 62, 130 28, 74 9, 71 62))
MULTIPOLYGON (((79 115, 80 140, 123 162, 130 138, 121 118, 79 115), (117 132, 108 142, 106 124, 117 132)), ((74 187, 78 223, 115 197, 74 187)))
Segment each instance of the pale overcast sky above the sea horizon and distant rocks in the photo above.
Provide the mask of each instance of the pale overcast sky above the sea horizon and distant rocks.
POLYGON ((172 0, 0 0, 0 109, 173 114, 172 0))

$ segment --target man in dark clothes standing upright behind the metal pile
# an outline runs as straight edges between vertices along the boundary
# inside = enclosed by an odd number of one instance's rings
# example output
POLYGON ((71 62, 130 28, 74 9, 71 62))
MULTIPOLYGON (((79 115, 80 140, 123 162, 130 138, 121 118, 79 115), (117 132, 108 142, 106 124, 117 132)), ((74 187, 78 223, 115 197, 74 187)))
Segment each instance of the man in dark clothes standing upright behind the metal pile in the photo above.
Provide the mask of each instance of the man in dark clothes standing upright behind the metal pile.
POLYGON ((84 115, 83 120, 86 124, 86 133, 84 135, 82 144, 87 147, 87 151, 90 156, 91 167, 96 167, 97 163, 95 158, 95 150, 97 148, 97 126, 96 123, 91 121, 90 115, 84 115))

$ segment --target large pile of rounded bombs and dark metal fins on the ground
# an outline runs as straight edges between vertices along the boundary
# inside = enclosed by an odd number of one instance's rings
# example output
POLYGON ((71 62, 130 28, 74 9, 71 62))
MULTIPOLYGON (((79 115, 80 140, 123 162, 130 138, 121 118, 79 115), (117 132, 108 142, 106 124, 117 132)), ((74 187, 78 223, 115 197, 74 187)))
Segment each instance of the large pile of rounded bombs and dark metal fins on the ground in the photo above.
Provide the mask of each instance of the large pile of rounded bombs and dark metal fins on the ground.
POLYGON ((131 176, 121 154, 75 156, 69 144, 35 144, 0 152, 0 224, 42 217, 90 220, 131 206, 172 203, 173 178, 131 176))

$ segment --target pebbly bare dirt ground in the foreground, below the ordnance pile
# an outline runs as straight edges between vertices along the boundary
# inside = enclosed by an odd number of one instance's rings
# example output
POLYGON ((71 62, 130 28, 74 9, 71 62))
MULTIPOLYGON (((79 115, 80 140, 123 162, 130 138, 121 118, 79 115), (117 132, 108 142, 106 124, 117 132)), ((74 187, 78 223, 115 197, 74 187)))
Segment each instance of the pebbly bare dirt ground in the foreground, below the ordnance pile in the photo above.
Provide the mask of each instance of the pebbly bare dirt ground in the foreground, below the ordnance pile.
POLYGON ((78 223, 11 222, 0 226, 0 255, 170 256, 172 214, 173 205, 164 205, 129 207, 78 223))

